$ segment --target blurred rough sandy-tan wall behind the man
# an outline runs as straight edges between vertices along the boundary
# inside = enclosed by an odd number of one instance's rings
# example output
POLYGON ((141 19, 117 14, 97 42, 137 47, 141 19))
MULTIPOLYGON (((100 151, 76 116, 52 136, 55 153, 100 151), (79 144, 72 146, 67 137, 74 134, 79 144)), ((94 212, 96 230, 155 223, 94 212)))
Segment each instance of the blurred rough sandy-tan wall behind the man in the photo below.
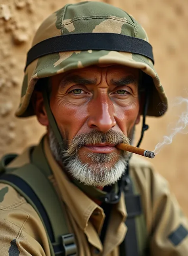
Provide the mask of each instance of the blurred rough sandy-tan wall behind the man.
MULTIPOLYGON (((17 119, 26 53, 40 23, 52 12, 74 0, 0 0, 0 156, 21 153, 36 144, 44 127, 35 117, 17 119)), ((169 135, 169 124, 182 112, 188 122, 188 105, 172 107, 177 96, 188 98, 188 1, 105 0, 134 16, 148 33, 153 46, 155 68, 169 97, 169 111, 159 118, 147 118, 150 129, 141 147, 153 150, 169 135)), ((175 126, 174 126, 175 127, 175 126)), ((184 130, 185 131, 185 130, 184 130)), ((140 126, 136 128, 136 139, 140 126)), ((135 142, 136 144, 136 142, 135 142)), ((188 216, 188 134, 178 133, 151 162, 168 181, 188 216)))

